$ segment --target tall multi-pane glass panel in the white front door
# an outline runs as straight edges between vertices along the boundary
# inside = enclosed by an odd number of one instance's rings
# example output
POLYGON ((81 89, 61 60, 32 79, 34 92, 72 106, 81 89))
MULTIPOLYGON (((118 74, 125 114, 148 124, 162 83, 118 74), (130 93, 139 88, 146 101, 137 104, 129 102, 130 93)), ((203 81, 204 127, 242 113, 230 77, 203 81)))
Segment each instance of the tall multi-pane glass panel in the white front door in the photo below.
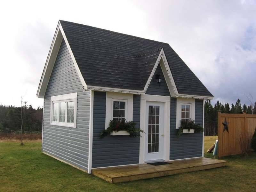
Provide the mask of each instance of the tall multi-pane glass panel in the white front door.
POLYGON ((159 106, 148 106, 148 153, 159 151, 159 106))

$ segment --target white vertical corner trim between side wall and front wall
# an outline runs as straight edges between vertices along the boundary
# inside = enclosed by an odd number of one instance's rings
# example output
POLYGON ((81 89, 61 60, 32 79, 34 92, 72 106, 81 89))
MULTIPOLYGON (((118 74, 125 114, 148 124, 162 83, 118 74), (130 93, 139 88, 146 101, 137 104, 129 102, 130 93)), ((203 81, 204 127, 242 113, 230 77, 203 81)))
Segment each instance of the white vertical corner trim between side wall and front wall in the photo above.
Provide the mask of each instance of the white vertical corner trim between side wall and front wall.
POLYGON ((93 100, 94 100, 94 91, 91 91, 90 122, 89 122, 89 151, 88 151, 88 173, 89 174, 92 173, 93 100))

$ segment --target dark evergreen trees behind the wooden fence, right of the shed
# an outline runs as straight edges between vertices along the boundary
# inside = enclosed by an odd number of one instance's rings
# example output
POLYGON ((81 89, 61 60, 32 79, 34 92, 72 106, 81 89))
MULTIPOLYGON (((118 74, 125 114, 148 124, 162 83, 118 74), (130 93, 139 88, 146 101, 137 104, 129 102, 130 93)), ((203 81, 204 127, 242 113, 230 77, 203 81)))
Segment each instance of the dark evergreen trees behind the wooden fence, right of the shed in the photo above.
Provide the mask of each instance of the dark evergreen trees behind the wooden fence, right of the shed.
POLYGON ((243 113, 246 112, 247 114, 256 114, 256 102, 254 106, 246 106, 244 104, 242 106, 241 100, 237 99, 235 105, 232 103, 231 107, 229 103, 221 103, 219 100, 217 101, 214 106, 212 106, 211 100, 206 100, 204 103, 204 135, 205 136, 212 136, 217 135, 217 128, 218 128, 218 111, 221 113, 243 113))

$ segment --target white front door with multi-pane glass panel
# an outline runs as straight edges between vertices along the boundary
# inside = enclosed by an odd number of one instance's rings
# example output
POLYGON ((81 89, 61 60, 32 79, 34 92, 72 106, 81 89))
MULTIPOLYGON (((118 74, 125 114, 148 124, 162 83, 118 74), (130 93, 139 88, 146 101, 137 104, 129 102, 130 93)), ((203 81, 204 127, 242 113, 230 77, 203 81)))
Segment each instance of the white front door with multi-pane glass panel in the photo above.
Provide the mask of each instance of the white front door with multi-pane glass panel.
POLYGON ((163 160, 164 103, 146 101, 145 161, 163 160))

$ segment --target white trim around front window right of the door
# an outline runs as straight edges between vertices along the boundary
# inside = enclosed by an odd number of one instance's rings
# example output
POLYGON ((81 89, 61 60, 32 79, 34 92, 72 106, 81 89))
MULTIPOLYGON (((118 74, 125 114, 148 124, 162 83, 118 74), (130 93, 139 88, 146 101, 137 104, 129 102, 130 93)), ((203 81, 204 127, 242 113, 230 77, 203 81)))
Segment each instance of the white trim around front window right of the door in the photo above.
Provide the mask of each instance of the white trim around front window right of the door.
POLYGON ((176 129, 179 129, 180 127, 180 121, 181 121, 181 105, 189 105, 190 106, 190 112, 189 117, 192 120, 195 120, 195 99, 188 99, 188 98, 177 98, 177 106, 176 106, 176 129))

